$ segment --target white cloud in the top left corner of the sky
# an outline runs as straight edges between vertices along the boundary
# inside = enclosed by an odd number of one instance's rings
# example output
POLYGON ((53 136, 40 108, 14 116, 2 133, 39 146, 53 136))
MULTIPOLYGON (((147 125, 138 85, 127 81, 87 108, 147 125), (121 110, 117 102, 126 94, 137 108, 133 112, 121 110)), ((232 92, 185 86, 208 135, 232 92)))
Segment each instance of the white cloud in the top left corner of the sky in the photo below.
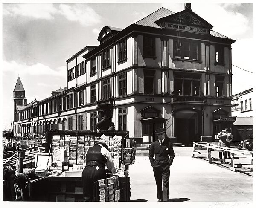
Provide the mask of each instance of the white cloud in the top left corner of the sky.
POLYGON ((53 19, 58 10, 52 3, 12 3, 3 4, 3 15, 26 16, 35 19, 53 19))

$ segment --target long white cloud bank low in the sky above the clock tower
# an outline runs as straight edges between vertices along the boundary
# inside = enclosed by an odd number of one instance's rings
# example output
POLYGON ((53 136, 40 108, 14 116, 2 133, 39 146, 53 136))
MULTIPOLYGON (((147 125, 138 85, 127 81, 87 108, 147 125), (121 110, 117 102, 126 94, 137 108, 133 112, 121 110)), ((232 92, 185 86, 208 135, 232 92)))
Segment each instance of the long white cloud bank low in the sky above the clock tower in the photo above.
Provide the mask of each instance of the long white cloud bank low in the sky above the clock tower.
POLYGON ((33 65, 27 65, 27 64, 19 64, 16 61, 3 61, 3 72, 16 72, 19 71, 20 73, 24 75, 53 75, 53 76, 66 76, 66 67, 61 66, 58 67, 56 70, 51 69, 49 66, 45 66, 41 63, 36 63, 33 65))

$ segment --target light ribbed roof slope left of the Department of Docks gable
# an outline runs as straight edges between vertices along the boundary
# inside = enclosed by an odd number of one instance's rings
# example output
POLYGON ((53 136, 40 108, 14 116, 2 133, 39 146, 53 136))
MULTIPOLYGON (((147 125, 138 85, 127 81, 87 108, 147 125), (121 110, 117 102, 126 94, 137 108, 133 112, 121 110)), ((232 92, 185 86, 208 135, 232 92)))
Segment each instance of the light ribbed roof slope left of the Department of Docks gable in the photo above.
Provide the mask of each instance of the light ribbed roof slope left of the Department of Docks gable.
POLYGON ((152 14, 149 14, 147 17, 144 17, 143 19, 139 20, 138 22, 134 23, 137 25, 143 25, 148 27, 156 27, 161 28, 156 23, 154 23, 156 20, 159 20, 163 17, 169 16, 171 14, 175 14, 175 12, 172 12, 166 8, 160 8, 157 11, 153 12, 152 14))

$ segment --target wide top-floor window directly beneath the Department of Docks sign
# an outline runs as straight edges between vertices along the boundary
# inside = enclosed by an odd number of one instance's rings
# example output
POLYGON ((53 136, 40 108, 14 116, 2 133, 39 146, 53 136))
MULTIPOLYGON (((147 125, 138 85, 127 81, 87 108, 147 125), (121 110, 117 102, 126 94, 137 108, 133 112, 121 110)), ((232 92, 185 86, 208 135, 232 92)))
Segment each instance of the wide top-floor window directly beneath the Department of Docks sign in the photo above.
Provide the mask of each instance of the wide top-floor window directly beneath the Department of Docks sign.
POLYGON ((189 40, 173 41, 174 58, 182 61, 201 61, 200 43, 189 40))

